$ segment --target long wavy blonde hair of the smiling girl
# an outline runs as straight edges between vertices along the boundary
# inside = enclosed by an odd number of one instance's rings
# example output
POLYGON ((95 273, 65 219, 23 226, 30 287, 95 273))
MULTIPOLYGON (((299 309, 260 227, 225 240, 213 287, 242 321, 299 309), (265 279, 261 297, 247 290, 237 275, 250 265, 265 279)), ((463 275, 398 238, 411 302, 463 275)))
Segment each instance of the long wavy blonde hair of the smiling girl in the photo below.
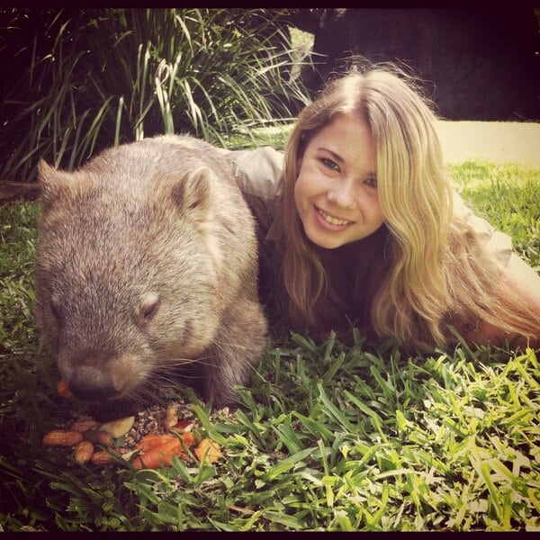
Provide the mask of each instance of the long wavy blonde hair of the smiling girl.
MULTIPOLYGON (((337 114, 365 119, 376 152, 379 202, 385 216, 384 257, 370 292, 369 319, 380 337, 430 348, 453 340, 448 325, 480 320, 537 337, 540 319, 501 285, 502 269, 453 214, 453 191, 435 130, 437 120, 416 80, 397 67, 369 67, 331 82, 308 105, 285 148, 281 220, 282 276, 291 320, 317 329, 330 302, 329 278, 306 238, 293 198, 298 158, 337 114)), ((381 254, 382 255, 382 254, 381 254)))

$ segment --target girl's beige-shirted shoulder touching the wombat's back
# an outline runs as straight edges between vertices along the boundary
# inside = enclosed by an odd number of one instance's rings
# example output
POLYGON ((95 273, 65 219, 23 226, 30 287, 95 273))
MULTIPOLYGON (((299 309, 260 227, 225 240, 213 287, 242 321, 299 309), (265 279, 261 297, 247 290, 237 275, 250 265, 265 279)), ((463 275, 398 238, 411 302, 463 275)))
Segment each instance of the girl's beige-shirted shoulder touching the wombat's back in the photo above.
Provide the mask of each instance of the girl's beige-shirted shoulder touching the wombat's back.
POLYGON ((266 201, 280 192, 284 154, 272 147, 234 150, 229 153, 238 187, 266 201))

